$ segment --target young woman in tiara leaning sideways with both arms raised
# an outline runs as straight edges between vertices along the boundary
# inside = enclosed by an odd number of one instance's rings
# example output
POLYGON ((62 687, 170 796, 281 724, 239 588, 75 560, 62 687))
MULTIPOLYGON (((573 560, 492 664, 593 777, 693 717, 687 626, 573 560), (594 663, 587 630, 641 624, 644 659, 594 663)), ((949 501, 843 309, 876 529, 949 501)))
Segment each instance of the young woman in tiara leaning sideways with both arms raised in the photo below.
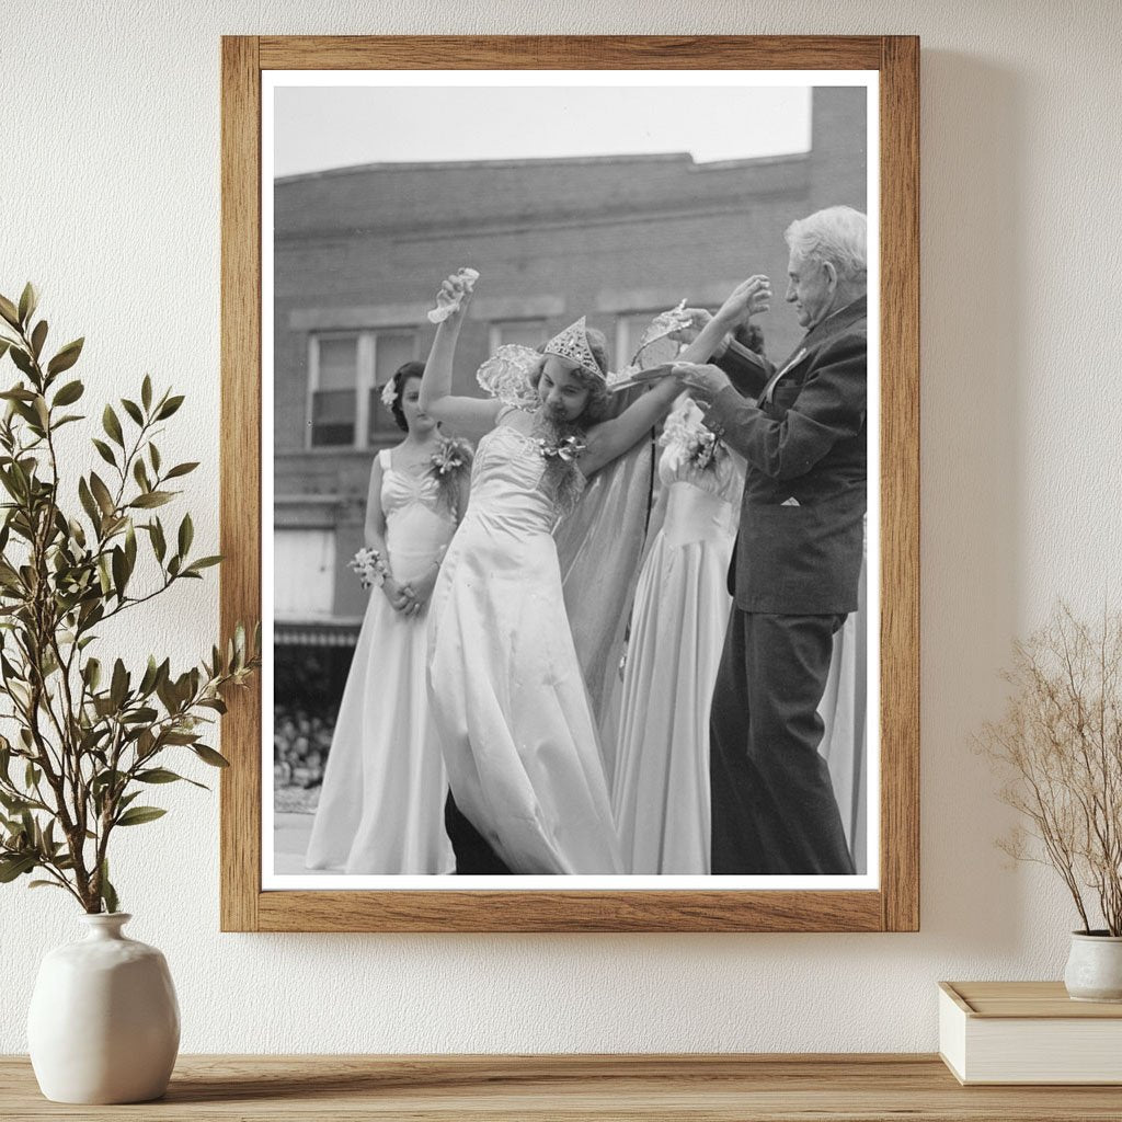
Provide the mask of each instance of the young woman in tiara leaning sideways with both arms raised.
MULTIPOLYGON (((425 413, 480 438, 467 515, 429 616, 431 728, 451 787, 457 872, 624 873, 552 531, 586 480, 650 433, 680 386, 664 379, 609 416, 604 337, 581 318, 544 353, 525 352, 521 369, 508 362, 489 381, 480 371, 499 399, 453 397, 472 284, 462 274, 443 283, 447 319, 421 386, 425 413)), ((680 359, 708 358, 758 288, 758 278, 739 285, 680 359)))

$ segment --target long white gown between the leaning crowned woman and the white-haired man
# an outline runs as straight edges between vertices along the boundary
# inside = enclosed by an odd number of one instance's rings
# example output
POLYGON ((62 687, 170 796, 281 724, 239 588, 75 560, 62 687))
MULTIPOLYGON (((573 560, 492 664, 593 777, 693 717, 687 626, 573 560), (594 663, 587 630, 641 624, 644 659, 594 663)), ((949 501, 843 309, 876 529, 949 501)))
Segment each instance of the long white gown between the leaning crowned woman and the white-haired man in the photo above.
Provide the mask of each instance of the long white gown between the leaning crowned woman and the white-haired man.
POLYGON ((727 451, 701 469, 687 401, 659 460, 665 518, 635 590, 622 688, 613 811, 627 872, 709 873, 709 708, 732 597, 728 563, 743 475, 727 451))

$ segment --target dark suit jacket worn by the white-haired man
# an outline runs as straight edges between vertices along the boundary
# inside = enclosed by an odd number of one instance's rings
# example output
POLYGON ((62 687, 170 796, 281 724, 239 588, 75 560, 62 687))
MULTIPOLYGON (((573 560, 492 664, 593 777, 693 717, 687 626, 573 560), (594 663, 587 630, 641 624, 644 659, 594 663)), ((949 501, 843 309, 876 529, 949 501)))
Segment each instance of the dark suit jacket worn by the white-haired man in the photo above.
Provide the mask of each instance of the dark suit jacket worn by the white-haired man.
POLYGON ((747 460, 729 588, 742 611, 834 615, 857 608, 866 310, 862 296, 822 320, 779 368, 773 386, 776 368, 738 343, 717 359, 734 386, 712 399, 706 424, 747 460), (758 405, 745 399, 762 393, 758 405))

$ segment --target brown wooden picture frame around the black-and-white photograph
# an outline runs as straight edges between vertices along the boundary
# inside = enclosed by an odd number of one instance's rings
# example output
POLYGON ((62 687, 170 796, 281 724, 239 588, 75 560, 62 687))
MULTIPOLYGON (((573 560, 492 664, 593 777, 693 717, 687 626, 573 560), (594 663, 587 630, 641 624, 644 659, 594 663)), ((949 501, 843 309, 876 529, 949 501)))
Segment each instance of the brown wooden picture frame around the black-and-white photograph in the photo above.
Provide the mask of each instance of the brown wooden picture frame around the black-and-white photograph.
MULTIPOLYGON (((919 40, 226 37, 221 622, 261 616, 261 73, 831 70, 880 74, 880 885, 781 891, 263 890, 261 697, 223 719, 226 931, 914 931, 919 927, 919 40)), ((872 140, 870 141, 872 144, 872 140)))

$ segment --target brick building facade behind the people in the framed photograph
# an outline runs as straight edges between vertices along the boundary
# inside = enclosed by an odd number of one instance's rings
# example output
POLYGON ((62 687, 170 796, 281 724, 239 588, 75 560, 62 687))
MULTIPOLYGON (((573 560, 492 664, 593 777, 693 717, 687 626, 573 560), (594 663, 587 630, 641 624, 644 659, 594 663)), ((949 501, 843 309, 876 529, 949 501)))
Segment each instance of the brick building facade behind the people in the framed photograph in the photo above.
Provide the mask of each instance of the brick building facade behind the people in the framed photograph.
POLYGON ((834 203, 866 209, 855 140, 864 122, 863 89, 819 88, 800 155, 386 164, 278 180, 277 643, 349 656, 367 594, 344 564, 361 544, 371 459, 399 439, 378 390, 427 353, 425 312, 449 272, 481 274, 457 356, 459 393, 479 392, 473 373, 500 342, 536 344, 582 313, 618 368, 653 314, 683 297, 716 305, 751 273, 773 279, 778 298, 761 325, 767 352, 782 358, 800 334, 782 306, 783 230, 834 203))

